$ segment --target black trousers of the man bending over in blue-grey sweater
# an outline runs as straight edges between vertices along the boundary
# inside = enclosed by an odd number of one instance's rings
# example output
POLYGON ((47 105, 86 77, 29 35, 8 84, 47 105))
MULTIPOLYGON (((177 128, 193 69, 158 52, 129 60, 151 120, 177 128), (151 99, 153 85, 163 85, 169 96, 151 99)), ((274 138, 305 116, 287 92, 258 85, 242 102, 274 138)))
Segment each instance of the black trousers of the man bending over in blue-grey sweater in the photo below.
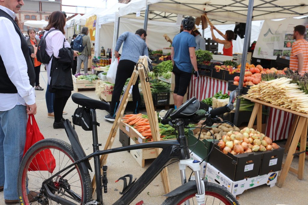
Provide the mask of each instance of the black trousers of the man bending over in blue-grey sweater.
MULTIPOLYGON (((112 92, 112 98, 110 103, 110 114, 115 116, 115 112, 118 109, 120 103, 120 97, 122 90, 124 88, 125 82, 128 78, 132 77, 136 63, 130 60, 120 60, 118 69, 116 71, 115 77, 115 86, 112 92)), ((139 77, 135 85, 133 85, 132 94, 133 94, 133 104, 134 114, 139 113, 139 106, 141 102, 140 92, 139 92, 139 77)))

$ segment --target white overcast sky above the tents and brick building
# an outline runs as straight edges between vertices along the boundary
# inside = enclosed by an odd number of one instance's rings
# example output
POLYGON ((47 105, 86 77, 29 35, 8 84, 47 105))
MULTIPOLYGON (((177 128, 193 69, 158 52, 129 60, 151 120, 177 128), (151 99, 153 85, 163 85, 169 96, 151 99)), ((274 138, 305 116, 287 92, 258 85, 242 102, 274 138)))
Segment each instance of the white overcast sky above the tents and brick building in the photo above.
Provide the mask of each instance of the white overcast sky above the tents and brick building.
MULTIPOLYGON (((110 8, 115 3, 118 2, 118 0, 62 0, 62 5, 72 5, 72 6, 81 6, 77 7, 77 13, 84 14, 89 11, 91 11, 93 8, 84 8, 87 7, 101 7, 106 8, 106 1, 107 1, 107 8, 110 8)), ((76 13, 76 7, 69 7, 69 6, 63 6, 62 10, 67 13, 76 13)), ((68 16, 71 16, 72 14, 68 14, 68 16)))

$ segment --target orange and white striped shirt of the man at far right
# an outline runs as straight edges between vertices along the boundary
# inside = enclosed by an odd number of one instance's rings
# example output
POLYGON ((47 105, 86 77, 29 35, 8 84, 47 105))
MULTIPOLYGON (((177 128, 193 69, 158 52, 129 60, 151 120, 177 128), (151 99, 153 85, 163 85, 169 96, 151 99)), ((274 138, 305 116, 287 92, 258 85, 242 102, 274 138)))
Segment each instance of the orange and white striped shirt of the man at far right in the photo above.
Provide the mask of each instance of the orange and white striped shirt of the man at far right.
POLYGON ((299 53, 302 53, 304 57, 302 73, 308 72, 308 42, 304 39, 298 39, 292 44, 292 50, 290 55, 290 69, 298 70, 297 55, 299 53))

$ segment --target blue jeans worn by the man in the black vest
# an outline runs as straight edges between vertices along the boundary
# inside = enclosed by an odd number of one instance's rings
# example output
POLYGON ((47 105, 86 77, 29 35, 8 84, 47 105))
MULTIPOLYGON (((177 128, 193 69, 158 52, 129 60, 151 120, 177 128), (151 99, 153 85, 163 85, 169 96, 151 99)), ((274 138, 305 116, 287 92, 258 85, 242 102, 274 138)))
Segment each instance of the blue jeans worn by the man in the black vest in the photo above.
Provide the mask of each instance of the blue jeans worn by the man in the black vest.
POLYGON ((0 186, 4 199, 17 200, 17 176, 26 142, 26 106, 0 111, 0 186))

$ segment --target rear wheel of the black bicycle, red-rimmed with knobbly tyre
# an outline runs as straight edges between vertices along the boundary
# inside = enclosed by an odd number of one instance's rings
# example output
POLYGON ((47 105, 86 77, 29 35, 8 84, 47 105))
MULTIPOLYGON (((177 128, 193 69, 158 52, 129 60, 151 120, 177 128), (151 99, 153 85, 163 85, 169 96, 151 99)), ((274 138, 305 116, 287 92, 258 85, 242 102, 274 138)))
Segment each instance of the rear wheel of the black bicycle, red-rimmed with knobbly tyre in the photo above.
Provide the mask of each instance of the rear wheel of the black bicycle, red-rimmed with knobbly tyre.
MULTIPOLYGON (((47 190, 42 187, 42 183, 75 161, 76 157, 73 154, 71 145, 63 140, 45 139, 35 143, 26 152, 19 167, 18 195, 21 203, 25 205, 59 204, 47 197, 47 190), (54 160, 50 160, 52 159, 51 155, 54 160), (40 166, 49 171, 36 171, 40 161, 43 161, 40 166), (34 198, 28 198, 29 191, 36 192, 32 192, 34 198)), ((47 182, 47 187, 54 195, 75 204, 87 203, 92 197, 89 172, 84 173, 78 165, 59 173, 59 175, 47 182)))

